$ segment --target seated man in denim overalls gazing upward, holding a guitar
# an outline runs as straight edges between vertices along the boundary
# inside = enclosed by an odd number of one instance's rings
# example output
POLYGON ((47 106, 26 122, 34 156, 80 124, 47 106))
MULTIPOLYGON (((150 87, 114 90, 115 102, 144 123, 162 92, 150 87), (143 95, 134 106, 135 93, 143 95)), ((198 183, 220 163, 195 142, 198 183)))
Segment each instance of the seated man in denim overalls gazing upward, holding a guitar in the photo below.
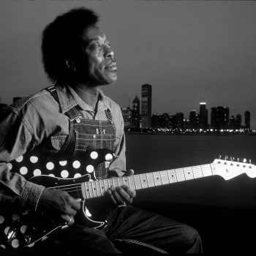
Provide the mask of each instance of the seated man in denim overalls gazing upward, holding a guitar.
POLYGON ((31 252, 45 249, 44 243, 67 252, 122 252, 127 244, 142 251, 202 252, 200 237, 192 227, 130 206, 136 193, 127 185, 108 189, 105 201, 112 201, 105 208, 108 225, 99 230, 75 222, 81 198, 27 181, 5 164, 31 151, 75 156, 108 148, 118 157, 110 163, 108 173, 97 173, 97 177, 133 173, 126 171, 121 109, 101 90, 116 82, 117 67, 98 20, 92 10, 79 8, 60 15, 45 28, 42 61, 54 86, 10 105, 1 117, 0 199, 51 214, 69 225, 36 244, 31 252))

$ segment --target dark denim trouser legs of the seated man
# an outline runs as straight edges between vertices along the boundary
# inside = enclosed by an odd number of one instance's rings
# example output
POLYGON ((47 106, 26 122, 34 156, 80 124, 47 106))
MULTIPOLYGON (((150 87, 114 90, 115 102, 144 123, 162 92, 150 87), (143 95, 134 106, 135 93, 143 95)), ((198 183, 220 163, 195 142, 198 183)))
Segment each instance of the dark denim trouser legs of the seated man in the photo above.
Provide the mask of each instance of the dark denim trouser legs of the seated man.
POLYGON ((48 248, 50 252, 71 254, 203 252, 200 236, 193 227, 132 206, 116 207, 102 230, 74 224, 39 247, 39 252, 48 248))

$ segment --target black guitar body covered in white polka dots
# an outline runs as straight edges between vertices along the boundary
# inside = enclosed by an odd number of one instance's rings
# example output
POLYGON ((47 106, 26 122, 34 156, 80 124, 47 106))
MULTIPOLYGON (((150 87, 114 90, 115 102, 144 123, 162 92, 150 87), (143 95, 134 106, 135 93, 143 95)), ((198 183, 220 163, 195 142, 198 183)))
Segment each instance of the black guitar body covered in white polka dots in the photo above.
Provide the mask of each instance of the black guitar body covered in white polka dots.
MULTIPOLYGON (((81 198, 82 205, 75 222, 87 227, 102 228, 107 221, 102 214, 105 191, 110 187, 108 167, 115 158, 112 151, 99 149, 77 157, 39 157, 25 155, 8 163, 11 172, 18 172, 35 184, 48 189, 61 189, 74 198, 81 198), (107 182, 106 182, 107 181, 107 182)), ((103 211, 104 212, 104 211, 103 211)), ((10 203, 1 203, 0 247, 18 250, 34 246, 53 232, 67 227, 49 214, 27 211, 10 203)))

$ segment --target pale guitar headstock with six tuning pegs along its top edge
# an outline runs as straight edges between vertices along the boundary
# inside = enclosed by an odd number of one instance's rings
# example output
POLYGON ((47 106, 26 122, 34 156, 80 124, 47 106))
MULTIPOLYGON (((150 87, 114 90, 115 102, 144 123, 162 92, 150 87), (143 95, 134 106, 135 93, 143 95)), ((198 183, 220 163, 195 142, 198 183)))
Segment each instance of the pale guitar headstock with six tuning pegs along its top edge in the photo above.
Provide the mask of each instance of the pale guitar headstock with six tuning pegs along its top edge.
POLYGON ((252 165, 251 162, 246 162, 246 159, 236 159, 230 157, 230 160, 225 157, 225 159, 215 159, 212 163, 214 174, 222 176, 225 180, 230 178, 235 178, 242 173, 246 173, 250 178, 256 177, 256 166, 252 165))

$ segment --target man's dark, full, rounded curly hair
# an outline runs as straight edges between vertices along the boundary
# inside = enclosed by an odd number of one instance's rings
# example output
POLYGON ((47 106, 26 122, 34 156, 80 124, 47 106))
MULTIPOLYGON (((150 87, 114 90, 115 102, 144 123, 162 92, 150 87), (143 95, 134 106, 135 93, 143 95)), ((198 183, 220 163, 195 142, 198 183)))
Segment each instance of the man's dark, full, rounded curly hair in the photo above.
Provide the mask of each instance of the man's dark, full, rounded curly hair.
POLYGON ((80 7, 59 15, 42 31, 42 63, 53 83, 69 80, 66 61, 80 50, 79 38, 84 29, 96 26, 98 21, 96 12, 80 7))

